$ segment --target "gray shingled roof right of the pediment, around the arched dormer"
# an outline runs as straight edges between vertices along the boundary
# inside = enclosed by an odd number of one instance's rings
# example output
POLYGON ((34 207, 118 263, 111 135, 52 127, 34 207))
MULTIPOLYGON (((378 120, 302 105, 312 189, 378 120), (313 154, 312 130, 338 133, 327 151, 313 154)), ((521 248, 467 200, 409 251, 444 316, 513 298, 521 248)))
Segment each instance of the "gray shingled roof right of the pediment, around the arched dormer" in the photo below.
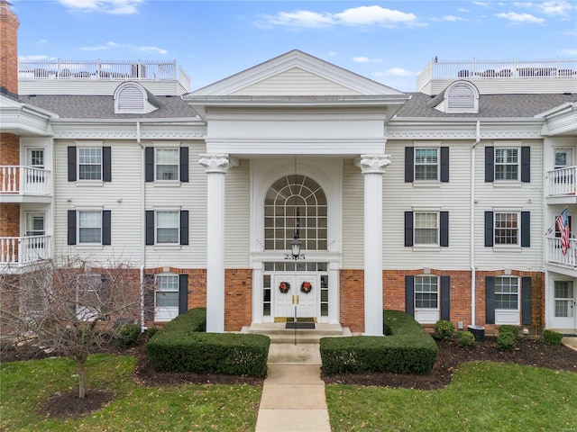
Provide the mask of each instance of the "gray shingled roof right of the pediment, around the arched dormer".
POLYGON ((434 96, 408 93, 411 99, 398 110, 397 117, 534 117, 567 102, 577 102, 577 94, 481 94, 478 114, 444 113, 427 106, 434 96))

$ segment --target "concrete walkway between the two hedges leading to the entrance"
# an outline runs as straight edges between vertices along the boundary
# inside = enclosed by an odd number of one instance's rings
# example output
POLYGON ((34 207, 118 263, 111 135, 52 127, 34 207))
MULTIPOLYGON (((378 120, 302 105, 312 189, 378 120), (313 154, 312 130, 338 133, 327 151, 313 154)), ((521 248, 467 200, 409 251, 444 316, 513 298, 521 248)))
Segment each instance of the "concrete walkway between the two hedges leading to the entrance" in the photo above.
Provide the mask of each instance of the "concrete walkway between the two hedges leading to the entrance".
POLYGON ((269 348, 256 432, 330 432, 318 344, 269 348))

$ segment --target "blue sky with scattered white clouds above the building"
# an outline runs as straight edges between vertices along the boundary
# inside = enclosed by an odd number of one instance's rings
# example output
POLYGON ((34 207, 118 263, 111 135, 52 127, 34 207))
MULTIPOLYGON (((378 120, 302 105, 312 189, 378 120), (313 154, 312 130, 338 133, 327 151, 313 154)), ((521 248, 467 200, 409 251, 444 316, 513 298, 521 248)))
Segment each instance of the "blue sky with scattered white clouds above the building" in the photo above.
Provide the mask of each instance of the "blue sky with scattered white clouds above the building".
POLYGON ((10 0, 21 58, 173 60, 192 89, 300 49, 401 91, 432 58, 577 58, 577 1, 10 0))

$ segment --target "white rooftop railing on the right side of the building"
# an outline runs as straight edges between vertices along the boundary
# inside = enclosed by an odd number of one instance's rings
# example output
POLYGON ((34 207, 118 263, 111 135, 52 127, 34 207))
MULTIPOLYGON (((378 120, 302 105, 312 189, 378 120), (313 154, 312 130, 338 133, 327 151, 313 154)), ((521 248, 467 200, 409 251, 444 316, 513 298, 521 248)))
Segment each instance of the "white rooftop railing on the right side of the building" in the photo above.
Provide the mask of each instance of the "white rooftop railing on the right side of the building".
POLYGON ((577 58, 537 60, 453 60, 433 59, 417 76, 417 88, 431 79, 568 78, 577 76, 577 58))

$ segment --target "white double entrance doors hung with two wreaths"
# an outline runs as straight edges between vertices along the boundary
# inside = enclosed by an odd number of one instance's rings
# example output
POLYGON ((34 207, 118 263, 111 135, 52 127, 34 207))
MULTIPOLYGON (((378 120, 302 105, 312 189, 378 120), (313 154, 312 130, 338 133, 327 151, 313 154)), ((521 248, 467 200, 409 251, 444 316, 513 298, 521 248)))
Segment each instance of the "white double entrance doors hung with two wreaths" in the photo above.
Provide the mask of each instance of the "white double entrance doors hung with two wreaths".
POLYGON ((294 317, 295 308, 297 318, 316 318, 319 312, 318 298, 320 293, 320 278, 315 273, 275 275, 272 300, 274 302, 274 316, 294 317), (290 284, 287 293, 280 292, 280 284, 290 284), (310 293, 302 293, 300 287, 304 283, 312 286, 310 293))

